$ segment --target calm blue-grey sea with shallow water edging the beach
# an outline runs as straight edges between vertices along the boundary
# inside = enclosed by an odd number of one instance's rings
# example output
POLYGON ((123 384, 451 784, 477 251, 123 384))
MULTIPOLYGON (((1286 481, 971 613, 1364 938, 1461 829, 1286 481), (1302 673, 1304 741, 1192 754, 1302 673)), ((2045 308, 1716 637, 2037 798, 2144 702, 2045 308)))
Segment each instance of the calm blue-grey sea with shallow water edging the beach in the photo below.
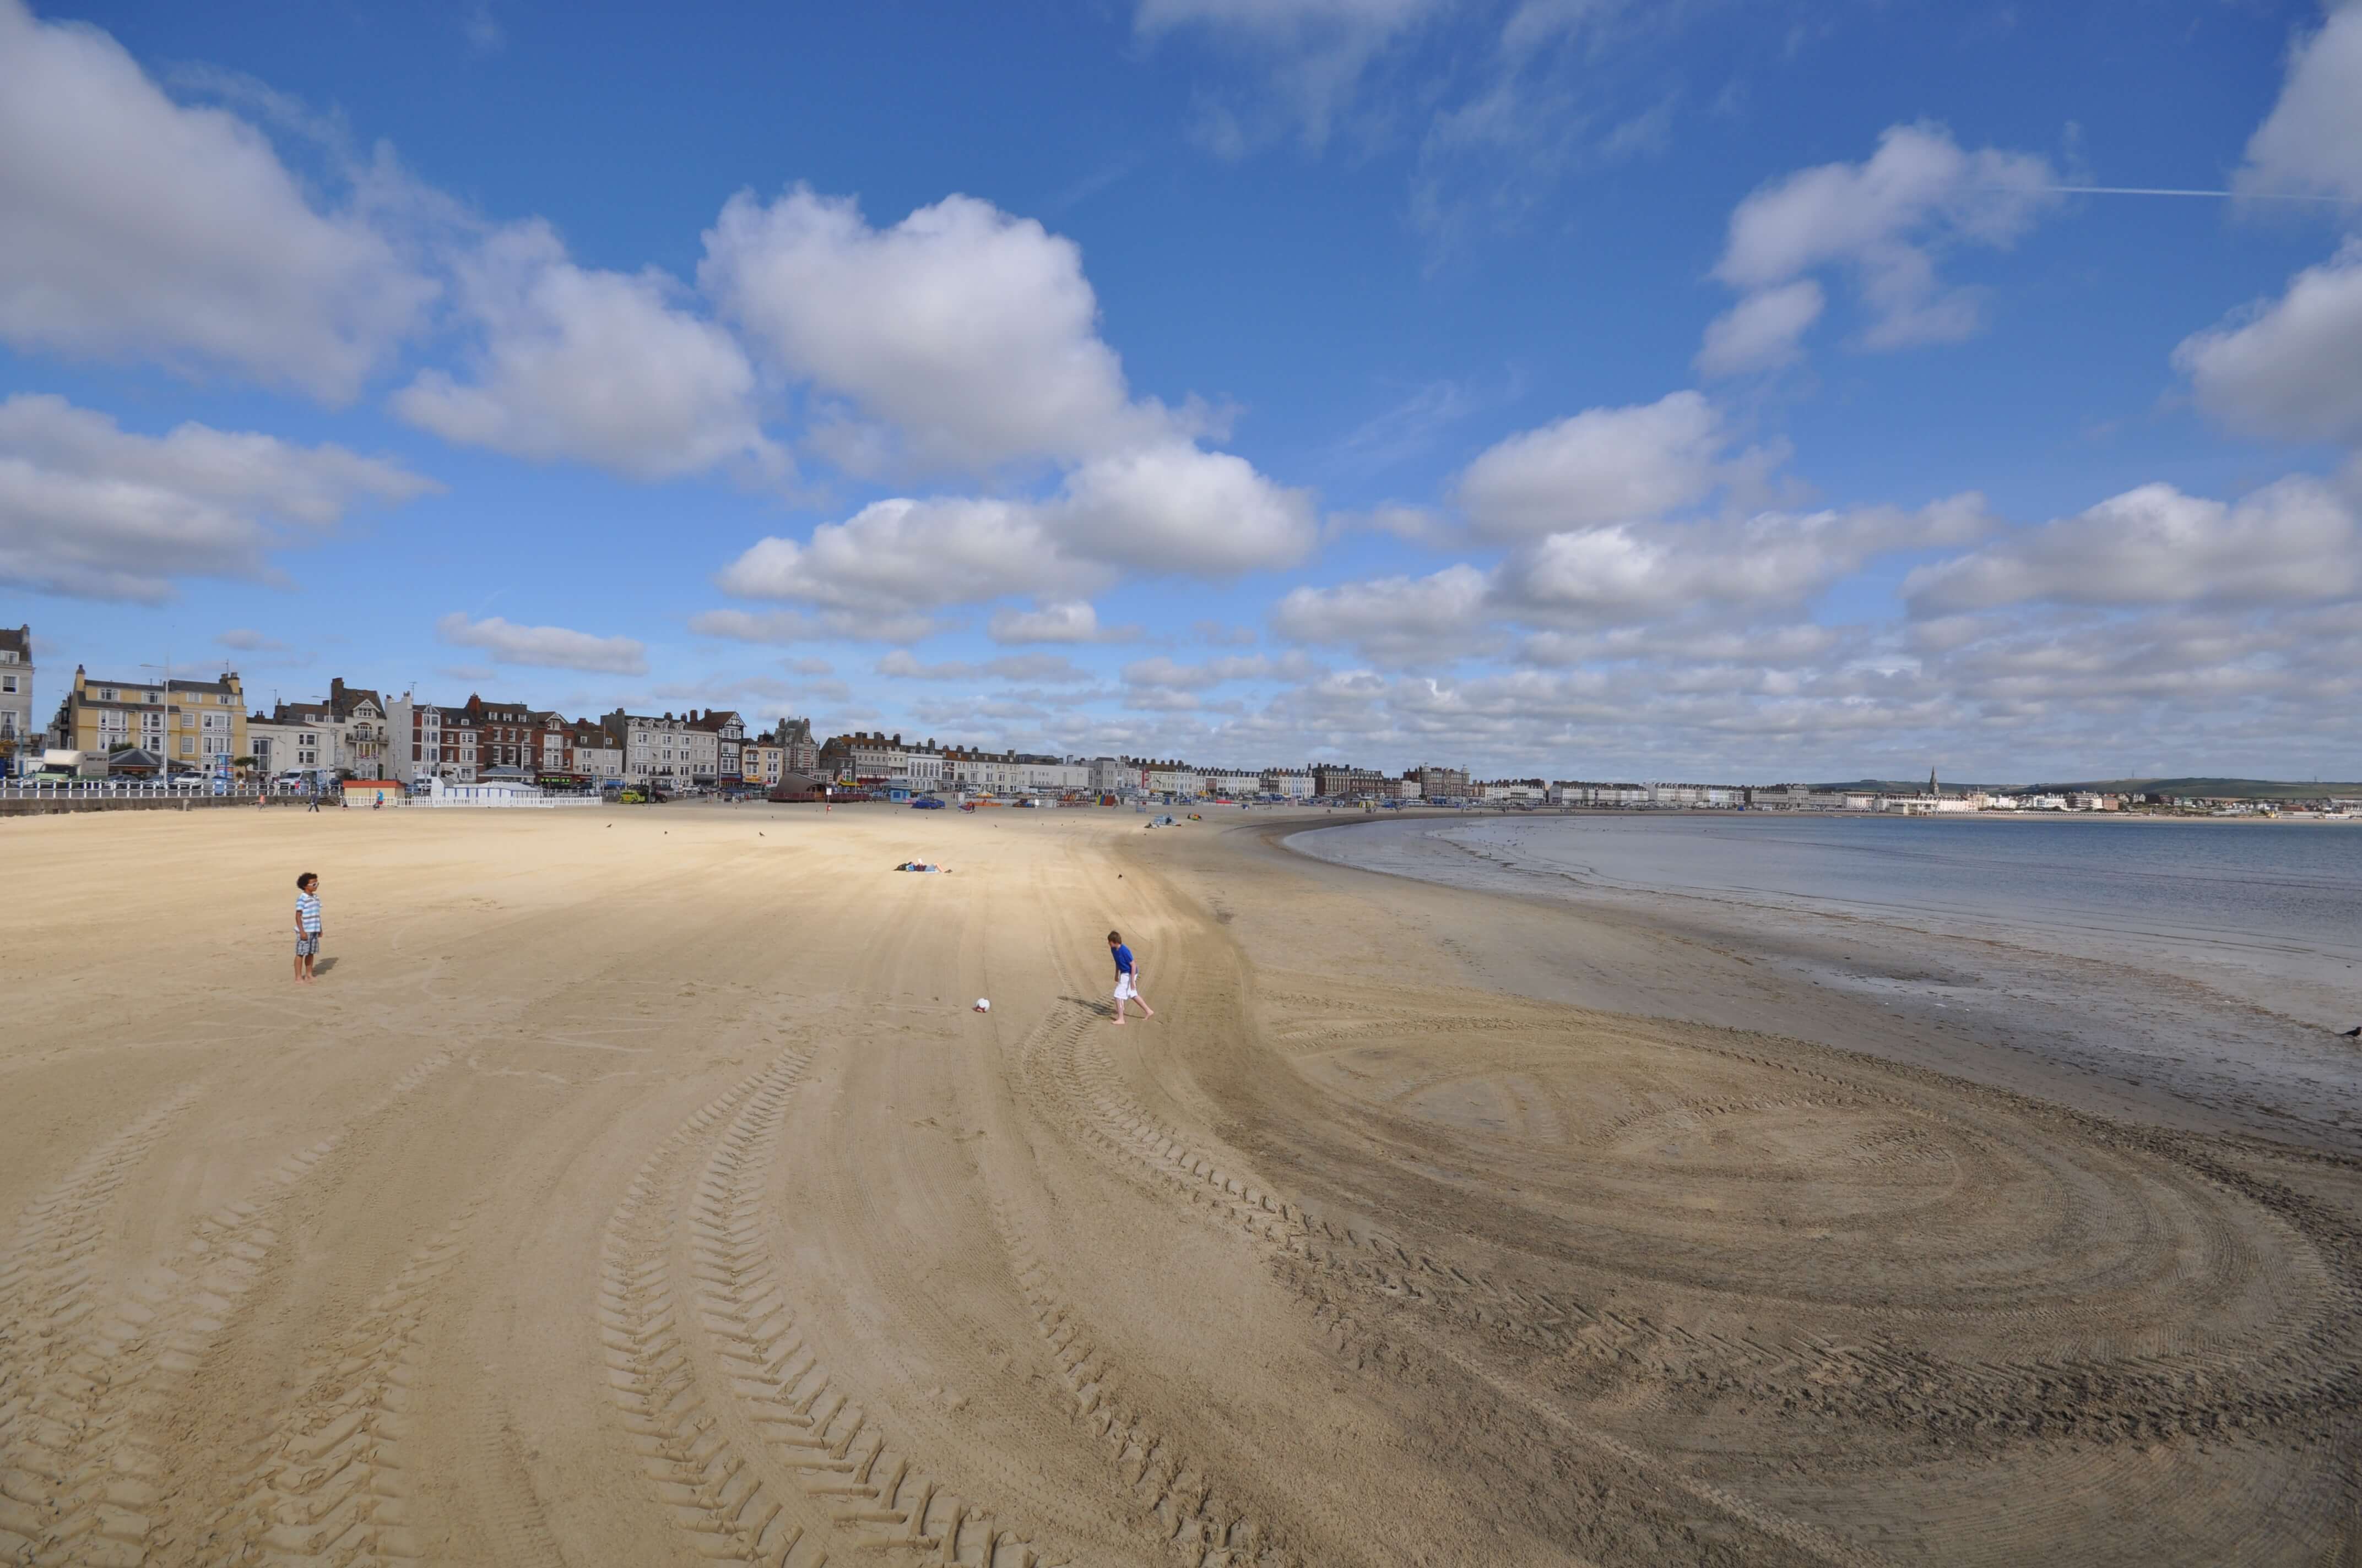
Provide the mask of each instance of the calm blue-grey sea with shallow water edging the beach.
POLYGON ((2206 1105, 2353 1131, 2362 829, 1788 815, 1389 819, 1290 848, 1679 923, 2206 1105))

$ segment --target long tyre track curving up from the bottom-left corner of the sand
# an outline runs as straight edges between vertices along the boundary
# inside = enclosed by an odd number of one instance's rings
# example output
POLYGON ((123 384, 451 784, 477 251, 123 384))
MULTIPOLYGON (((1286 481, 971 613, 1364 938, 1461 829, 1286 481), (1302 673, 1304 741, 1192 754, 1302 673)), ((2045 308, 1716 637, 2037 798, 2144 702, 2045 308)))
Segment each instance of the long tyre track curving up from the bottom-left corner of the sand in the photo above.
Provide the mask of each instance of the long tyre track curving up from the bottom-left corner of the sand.
POLYGON ((146 1429, 262 1275, 279 1242, 269 1221, 354 1129, 399 1105, 454 1058, 454 1051, 437 1051, 420 1060, 361 1115, 272 1167, 248 1197, 196 1221, 180 1268, 158 1263, 104 1311, 83 1299, 54 1325, 52 1344, 64 1344, 26 1379, 24 1415, 0 1452, 12 1488, 38 1495, 7 1523, 26 1540, 17 1549, 21 1563, 135 1568, 146 1561, 165 1502, 170 1448, 146 1429), (31 1523, 33 1533, 17 1523, 31 1523))

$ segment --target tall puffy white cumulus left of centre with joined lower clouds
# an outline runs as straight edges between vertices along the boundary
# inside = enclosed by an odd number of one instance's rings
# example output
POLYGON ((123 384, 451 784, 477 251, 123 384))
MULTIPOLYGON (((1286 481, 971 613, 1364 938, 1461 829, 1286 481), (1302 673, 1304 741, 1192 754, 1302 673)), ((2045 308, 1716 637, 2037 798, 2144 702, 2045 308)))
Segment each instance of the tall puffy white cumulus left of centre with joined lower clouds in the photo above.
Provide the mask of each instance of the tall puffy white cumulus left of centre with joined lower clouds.
POLYGON ((1306 491, 1129 394, 1079 250, 1037 222, 950 196, 874 229, 805 189, 737 196, 699 281, 784 373, 850 399, 824 449, 855 472, 1061 472, 1046 496, 900 496, 808 541, 758 541, 723 569, 727 593, 881 614, 1025 595, 1037 609, 1004 614, 1004 640, 1082 640, 1087 607, 1042 600, 1120 571, 1287 567, 1318 543, 1306 491))

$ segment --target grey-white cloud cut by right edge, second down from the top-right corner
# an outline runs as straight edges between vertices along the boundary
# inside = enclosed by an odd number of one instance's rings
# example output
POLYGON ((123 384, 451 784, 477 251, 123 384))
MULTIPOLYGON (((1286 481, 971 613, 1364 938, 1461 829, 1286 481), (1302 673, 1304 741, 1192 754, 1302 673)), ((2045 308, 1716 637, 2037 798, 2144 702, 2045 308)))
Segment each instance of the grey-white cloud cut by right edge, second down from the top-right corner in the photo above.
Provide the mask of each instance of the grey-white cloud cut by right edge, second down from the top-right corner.
POLYGON ((2296 274, 2282 298, 2185 338, 2173 364, 2234 430, 2362 442, 2362 239, 2296 274))

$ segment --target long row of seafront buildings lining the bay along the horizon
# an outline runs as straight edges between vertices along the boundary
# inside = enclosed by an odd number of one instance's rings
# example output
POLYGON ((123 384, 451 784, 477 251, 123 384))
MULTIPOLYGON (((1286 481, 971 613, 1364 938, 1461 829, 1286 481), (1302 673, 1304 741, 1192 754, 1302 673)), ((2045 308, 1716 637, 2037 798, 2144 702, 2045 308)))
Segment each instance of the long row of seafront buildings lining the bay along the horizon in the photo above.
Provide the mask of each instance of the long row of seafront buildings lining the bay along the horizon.
POLYGON ((1944 786, 1934 770, 1920 784, 1696 784, 1677 779, 1472 779, 1462 767, 1422 763, 1386 775, 1349 760, 1299 767, 1198 767, 1183 758, 1046 756, 983 746, 905 741, 855 730, 815 739, 808 718, 779 718, 753 732, 735 708, 567 718, 524 701, 470 694, 465 704, 418 701, 376 687, 328 682, 321 699, 274 701, 246 711, 239 675, 220 680, 99 680, 73 671, 73 685, 47 727, 33 725, 33 631, 0 626, 0 777, 33 772, 40 751, 80 751, 102 770, 154 775, 255 770, 340 772, 392 779, 413 789, 444 784, 543 784, 595 789, 642 784, 668 791, 791 786, 817 798, 822 786, 902 793, 1115 798, 1115 801, 1330 801, 1335 805, 1488 805, 1500 810, 1772 810, 1951 817, 1972 812, 2279 812, 2350 817, 2362 801, 2123 793, 2041 786, 1989 791, 1944 786))

